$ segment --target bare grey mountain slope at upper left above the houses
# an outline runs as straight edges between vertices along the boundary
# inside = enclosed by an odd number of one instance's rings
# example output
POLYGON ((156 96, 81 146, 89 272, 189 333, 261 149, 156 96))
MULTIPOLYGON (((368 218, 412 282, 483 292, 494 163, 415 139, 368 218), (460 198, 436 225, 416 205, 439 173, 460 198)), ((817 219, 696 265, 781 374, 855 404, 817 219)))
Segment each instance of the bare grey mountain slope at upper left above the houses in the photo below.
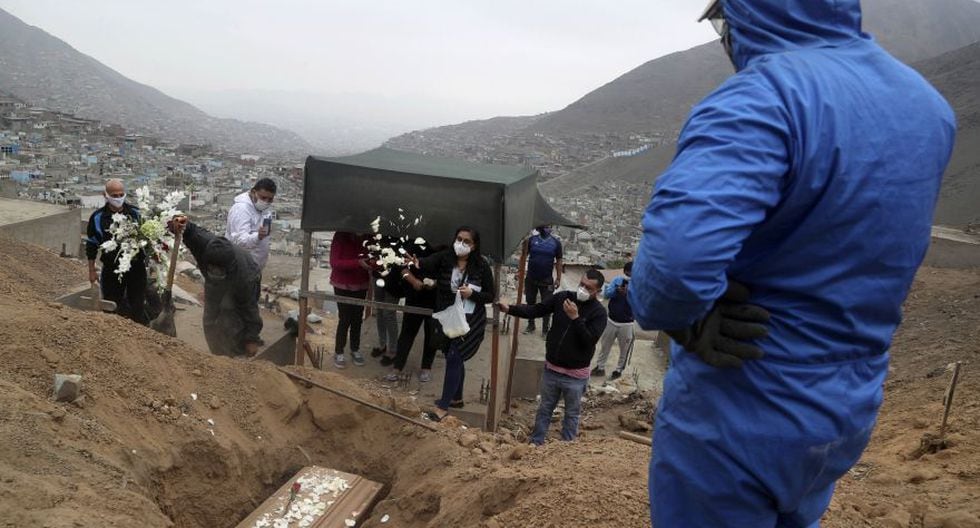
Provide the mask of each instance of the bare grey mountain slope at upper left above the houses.
POLYGON ((0 89, 31 104, 98 119, 163 139, 236 152, 308 154, 293 132, 217 119, 132 81, 0 9, 0 89))

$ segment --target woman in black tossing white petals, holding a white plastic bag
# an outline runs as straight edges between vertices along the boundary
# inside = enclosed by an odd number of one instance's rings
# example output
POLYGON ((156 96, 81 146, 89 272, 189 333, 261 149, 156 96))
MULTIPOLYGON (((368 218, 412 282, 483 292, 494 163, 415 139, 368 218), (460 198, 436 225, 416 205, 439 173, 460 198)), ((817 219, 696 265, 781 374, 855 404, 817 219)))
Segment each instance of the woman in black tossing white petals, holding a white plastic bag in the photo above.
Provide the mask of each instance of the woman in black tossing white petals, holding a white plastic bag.
MULTIPOLYGON (((439 421, 449 414, 450 407, 463 407, 463 383, 466 379, 464 362, 480 350, 487 327, 486 306, 495 295, 493 270, 480 253, 480 233, 470 227, 456 229, 451 248, 434 253, 421 260, 416 259, 417 269, 424 278, 436 281, 435 311, 445 310, 456 302, 456 294, 463 299, 466 321, 470 331, 449 339, 442 332, 438 321, 433 321, 436 336, 433 345, 446 355, 446 374, 442 382, 442 397, 436 400, 435 410, 427 413, 431 420, 439 421)), ((411 270, 402 272, 402 279, 416 290, 425 286, 411 270)))

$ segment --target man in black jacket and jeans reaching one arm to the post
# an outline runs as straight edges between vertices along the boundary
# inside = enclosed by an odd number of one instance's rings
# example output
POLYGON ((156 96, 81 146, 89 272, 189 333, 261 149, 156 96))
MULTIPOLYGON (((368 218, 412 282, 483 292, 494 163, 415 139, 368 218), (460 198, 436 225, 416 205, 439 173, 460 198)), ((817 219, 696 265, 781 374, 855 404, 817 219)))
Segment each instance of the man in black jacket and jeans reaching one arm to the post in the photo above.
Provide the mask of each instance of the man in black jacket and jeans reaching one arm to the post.
POLYGON ((571 441, 578 436, 582 396, 589 386, 589 365, 596 343, 606 329, 606 309, 596 299, 604 282, 602 273, 590 269, 574 292, 558 292, 535 305, 497 304, 501 312, 524 319, 552 315, 551 329, 545 338, 541 403, 534 419, 534 431, 528 438, 532 444, 544 443, 551 426, 551 413, 560 398, 565 400, 561 439, 571 441))

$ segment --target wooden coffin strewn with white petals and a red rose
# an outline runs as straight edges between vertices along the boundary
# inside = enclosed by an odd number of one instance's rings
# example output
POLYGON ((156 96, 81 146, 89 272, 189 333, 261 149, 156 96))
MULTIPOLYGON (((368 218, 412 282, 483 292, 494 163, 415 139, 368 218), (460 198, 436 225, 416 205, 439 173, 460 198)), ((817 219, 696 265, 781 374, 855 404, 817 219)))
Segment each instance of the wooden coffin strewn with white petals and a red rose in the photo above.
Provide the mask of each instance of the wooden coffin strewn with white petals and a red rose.
POLYGON ((308 466, 239 522, 237 528, 274 528, 278 519, 288 519, 289 528, 360 526, 380 498, 381 488, 381 484, 359 475, 308 466), (293 484, 297 482, 299 493, 290 502, 293 484))

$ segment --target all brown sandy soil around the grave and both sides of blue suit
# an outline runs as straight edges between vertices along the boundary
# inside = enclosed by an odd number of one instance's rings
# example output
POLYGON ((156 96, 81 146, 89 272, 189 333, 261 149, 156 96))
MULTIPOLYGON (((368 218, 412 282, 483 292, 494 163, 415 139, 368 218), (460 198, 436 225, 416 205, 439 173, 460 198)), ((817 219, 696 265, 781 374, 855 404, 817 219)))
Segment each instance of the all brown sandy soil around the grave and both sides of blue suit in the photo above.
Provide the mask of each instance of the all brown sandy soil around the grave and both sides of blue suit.
MULTIPOLYGON (((518 401, 496 435, 455 420, 430 432, 270 365, 52 304, 83 267, 0 242, 0 526, 234 526, 311 462, 385 484, 365 526, 649 526, 649 447, 615 435, 649 426, 654 391, 630 396, 624 383, 593 395, 574 443, 524 446, 532 401, 518 401), (81 374, 84 397, 54 402, 55 373, 81 374)), ((879 427, 824 526, 980 526, 978 356, 980 270, 923 269, 879 427), (952 446, 913 459, 938 427, 956 360, 966 363, 952 446)), ((406 415, 420 410, 372 379, 301 372, 406 415)))

